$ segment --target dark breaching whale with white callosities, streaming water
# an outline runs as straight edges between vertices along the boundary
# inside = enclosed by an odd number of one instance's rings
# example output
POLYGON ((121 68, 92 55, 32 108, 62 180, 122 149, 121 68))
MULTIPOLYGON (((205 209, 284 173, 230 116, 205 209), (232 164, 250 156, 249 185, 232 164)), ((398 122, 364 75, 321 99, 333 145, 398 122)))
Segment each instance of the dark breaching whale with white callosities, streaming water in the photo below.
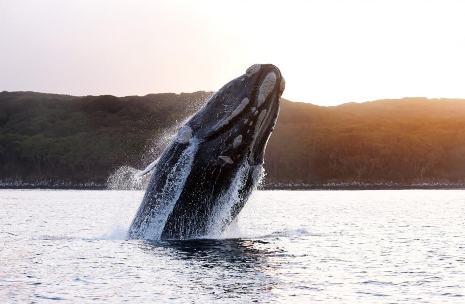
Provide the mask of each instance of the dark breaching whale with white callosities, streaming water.
POLYGON ((187 239, 223 231, 263 176, 266 143, 285 80, 256 64, 216 92, 182 126, 152 172, 131 239, 187 239))

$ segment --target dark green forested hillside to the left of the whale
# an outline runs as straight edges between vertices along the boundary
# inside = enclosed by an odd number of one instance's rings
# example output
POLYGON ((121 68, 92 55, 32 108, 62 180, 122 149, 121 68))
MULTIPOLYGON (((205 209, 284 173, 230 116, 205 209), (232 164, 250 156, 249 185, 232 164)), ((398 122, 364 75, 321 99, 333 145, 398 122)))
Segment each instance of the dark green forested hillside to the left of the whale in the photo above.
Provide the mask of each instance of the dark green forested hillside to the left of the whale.
POLYGON ((120 165, 144 166, 142 156, 157 153, 153 147, 164 131, 195 113, 210 94, 2 92, 0 179, 103 183, 120 165))

